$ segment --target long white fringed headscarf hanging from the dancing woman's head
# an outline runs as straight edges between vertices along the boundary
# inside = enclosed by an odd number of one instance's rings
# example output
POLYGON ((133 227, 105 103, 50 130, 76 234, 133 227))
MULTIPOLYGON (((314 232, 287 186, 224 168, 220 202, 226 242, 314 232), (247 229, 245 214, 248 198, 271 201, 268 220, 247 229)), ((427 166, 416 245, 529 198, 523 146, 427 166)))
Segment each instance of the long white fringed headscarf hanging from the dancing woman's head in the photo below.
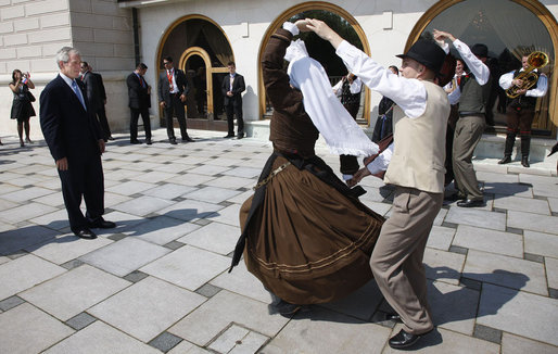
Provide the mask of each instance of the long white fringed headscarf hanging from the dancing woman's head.
POLYGON ((308 56, 302 40, 287 48, 291 85, 303 94, 304 109, 331 153, 370 156, 378 153, 373 143, 338 100, 321 64, 308 56))

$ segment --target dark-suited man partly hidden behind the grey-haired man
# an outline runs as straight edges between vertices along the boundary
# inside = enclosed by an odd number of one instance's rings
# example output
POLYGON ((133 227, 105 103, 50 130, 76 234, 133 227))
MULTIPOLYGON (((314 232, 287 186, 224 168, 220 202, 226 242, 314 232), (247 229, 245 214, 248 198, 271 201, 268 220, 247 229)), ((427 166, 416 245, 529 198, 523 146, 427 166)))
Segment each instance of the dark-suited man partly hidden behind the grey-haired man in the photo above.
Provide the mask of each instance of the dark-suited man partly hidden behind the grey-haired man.
POLYGON ((99 119, 103 139, 105 142, 109 139, 114 140, 104 110, 104 105, 106 104, 106 91, 104 90, 103 77, 101 74, 93 73, 91 65, 87 62, 81 62, 80 72, 81 81, 86 84, 87 100, 93 108, 93 115, 99 119))

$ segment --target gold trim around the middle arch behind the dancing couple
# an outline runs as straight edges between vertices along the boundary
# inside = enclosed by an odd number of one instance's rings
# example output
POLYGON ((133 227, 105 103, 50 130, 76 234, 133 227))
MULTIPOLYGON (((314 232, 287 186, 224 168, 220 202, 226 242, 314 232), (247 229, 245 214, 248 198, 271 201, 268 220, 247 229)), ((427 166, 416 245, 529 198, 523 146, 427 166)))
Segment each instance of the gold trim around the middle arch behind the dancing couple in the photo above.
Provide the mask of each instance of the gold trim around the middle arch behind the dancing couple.
MULTIPOLYGON (((288 10, 283 11, 267 28, 266 33, 264 34, 262 45, 259 46, 259 52, 257 55, 257 93, 259 98, 259 119, 263 119, 265 108, 266 108, 266 100, 265 100, 265 86, 264 86, 264 77, 262 73, 262 55, 264 54, 264 49, 267 46, 267 42, 269 41, 269 38, 271 35, 277 30, 277 28, 280 28, 282 24, 294 16, 297 13, 307 11, 307 10, 326 10, 329 12, 332 12, 334 14, 340 15, 343 17, 346 22, 351 24, 353 29, 356 31, 358 38, 360 39, 360 42, 363 43, 363 48, 365 53, 370 55, 370 46, 368 45, 368 39, 366 37, 365 31, 358 24, 358 22, 353 17, 352 14, 350 14, 347 11, 343 10, 342 8, 334 5, 329 2, 324 1, 308 1, 304 2, 297 5, 294 5, 292 8, 289 8, 288 10)), ((368 87, 365 86, 365 102, 364 102, 364 109, 363 109, 363 116, 370 124, 370 91, 368 87)))

